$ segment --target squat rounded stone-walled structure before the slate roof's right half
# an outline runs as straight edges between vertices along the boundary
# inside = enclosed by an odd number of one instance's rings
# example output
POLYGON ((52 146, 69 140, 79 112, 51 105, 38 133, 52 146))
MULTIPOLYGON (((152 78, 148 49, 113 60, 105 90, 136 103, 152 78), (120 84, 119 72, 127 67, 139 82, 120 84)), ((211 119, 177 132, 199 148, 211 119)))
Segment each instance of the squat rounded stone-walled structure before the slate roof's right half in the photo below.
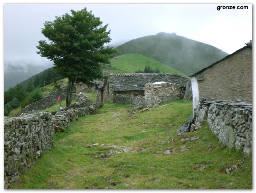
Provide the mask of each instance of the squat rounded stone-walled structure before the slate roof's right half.
POLYGON ((180 86, 176 83, 148 83, 145 85, 145 106, 155 107, 161 102, 176 100, 179 94, 180 86))

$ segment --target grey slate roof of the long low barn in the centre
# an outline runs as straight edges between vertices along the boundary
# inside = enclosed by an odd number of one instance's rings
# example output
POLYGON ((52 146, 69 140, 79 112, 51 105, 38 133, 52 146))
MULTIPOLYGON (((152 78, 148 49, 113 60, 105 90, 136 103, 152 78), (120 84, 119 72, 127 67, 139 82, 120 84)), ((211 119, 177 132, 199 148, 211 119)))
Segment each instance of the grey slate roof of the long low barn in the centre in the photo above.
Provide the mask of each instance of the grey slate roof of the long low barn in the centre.
POLYGON ((188 78, 181 75, 156 73, 129 73, 126 75, 113 75, 108 77, 109 87, 112 91, 144 91, 146 83, 154 83, 159 81, 174 82, 179 85, 182 82, 182 87, 186 87, 188 78))

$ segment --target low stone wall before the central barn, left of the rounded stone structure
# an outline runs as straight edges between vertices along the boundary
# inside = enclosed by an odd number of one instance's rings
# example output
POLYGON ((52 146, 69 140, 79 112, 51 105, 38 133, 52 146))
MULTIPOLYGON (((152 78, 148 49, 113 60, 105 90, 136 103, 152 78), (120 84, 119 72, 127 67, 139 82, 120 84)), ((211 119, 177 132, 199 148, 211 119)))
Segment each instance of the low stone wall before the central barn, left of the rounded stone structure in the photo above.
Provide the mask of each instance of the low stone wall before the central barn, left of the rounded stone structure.
POLYGON ((132 97, 131 95, 116 94, 114 96, 116 104, 132 104, 133 106, 144 105, 144 96, 132 97))

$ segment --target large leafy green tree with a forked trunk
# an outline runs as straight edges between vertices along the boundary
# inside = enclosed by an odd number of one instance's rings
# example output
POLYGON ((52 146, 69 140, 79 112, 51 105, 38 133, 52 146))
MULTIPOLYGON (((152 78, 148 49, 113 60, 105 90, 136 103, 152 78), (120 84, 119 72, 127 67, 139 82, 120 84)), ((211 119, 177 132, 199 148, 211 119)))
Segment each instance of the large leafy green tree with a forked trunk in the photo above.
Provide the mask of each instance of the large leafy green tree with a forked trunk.
POLYGON ((68 78, 67 107, 71 104, 74 83, 91 86, 93 79, 102 77, 101 64, 109 64, 116 52, 112 47, 104 47, 111 41, 107 27, 86 8, 71 10, 71 15, 66 13, 44 23, 42 34, 49 41, 39 41, 37 53, 52 60, 54 70, 68 78))

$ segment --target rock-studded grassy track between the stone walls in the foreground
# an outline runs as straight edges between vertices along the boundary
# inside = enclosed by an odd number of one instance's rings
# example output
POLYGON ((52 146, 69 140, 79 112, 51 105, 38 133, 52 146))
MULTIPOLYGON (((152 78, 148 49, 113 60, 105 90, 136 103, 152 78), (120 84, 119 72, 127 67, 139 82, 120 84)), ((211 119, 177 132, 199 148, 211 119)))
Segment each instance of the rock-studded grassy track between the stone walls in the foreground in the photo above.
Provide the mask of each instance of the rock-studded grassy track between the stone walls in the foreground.
POLYGON ((219 143, 207 125, 176 135, 192 102, 164 104, 133 114, 127 105, 105 103, 55 134, 54 147, 11 188, 252 189, 251 154, 219 143), (180 141, 193 136, 199 139, 180 141), (234 164, 238 171, 226 174, 234 164))

